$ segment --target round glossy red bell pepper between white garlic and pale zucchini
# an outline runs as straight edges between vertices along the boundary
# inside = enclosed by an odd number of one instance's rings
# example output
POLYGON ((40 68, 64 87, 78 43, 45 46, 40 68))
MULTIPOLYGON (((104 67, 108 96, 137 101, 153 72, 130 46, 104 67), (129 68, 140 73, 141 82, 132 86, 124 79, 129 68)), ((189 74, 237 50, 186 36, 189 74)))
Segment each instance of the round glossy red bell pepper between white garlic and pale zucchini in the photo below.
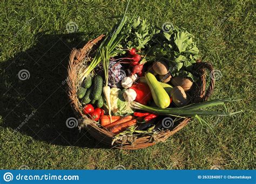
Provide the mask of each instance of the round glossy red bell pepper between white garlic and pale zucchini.
POLYGON ((152 100, 152 94, 149 86, 146 83, 140 82, 133 84, 130 89, 136 91, 136 99, 134 101, 139 102, 143 105, 146 105, 147 102, 152 100))

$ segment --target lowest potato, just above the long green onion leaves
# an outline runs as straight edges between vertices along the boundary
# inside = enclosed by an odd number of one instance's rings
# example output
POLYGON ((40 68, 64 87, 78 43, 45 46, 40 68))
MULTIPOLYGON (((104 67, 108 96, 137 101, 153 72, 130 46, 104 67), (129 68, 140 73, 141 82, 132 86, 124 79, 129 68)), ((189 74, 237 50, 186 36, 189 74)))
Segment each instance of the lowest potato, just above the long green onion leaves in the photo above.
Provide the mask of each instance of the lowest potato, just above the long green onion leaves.
POLYGON ((171 97, 174 104, 177 107, 183 107, 188 103, 187 95, 181 86, 176 86, 171 90, 171 97))

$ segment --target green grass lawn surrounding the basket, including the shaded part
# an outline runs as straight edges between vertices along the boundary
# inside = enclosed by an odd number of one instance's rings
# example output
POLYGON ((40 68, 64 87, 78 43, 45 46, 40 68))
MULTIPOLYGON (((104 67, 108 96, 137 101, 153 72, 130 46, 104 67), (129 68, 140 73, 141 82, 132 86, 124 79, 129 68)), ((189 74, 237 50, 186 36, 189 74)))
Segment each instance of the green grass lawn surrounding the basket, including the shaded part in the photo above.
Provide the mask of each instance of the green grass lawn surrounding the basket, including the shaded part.
POLYGON ((171 22, 196 37, 201 55, 222 77, 211 99, 234 97, 239 115, 207 117, 215 135, 191 121, 166 143, 137 151, 110 150, 85 130, 68 129, 73 117, 65 93, 72 47, 109 30, 125 1, 0 3, 0 168, 224 169, 255 168, 255 62, 253 1, 132 1, 129 15, 161 26, 171 22), (69 34, 66 24, 78 31, 69 34), (28 80, 18 79, 27 69, 28 80), (14 130, 32 111, 22 128, 14 130))

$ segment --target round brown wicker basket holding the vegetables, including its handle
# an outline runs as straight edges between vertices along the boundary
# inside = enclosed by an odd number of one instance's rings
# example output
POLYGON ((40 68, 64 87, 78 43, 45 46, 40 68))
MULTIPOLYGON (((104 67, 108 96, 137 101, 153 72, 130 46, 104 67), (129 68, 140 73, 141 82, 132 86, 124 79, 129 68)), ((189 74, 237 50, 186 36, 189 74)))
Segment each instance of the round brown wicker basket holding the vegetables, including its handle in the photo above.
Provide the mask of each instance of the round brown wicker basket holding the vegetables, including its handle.
MULTIPOLYGON (((144 137, 132 136, 123 140, 116 140, 112 144, 113 133, 107 131, 104 128, 100 128, 95 122, 92 122, 87 118, 82 112, 82 105, 77 98, 77 87, 79 85, 78 72, 81 64, 85 59, 90 60, 90 55, 93 51, 97 49, 97 43, 102 40, 104 35, 99 36, 95 40, 90 40, 82 49, 73 48, 70 54, 69 67, 68 67, 68 95, 70 98, 71 108, 74 111, 77 119, 79 128, 86 128, 92 137, 96 138, 100 142, 109 145, 110 147, 137 150, 139 148, 145 148, 152 146, 159 141, 165 141, 171 135, 184 128, 191 118, 185 118, 182 121, 176 122, 171 129, 163 130, 156 135, 145 135, 144 137), (92 51, 92 52, 91 52, 92 51)), ((208 97, 213 92, 214 88, 214 72, 213 66, 208 62, 198 61, 194 65, 194 73, 199 77, 197 83, 193 85, 191 89, 192 102, 203 102, 206 101, 208 97), (211 73, 210 84, 206 90, 206 69, 211 73)))

